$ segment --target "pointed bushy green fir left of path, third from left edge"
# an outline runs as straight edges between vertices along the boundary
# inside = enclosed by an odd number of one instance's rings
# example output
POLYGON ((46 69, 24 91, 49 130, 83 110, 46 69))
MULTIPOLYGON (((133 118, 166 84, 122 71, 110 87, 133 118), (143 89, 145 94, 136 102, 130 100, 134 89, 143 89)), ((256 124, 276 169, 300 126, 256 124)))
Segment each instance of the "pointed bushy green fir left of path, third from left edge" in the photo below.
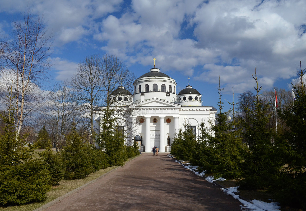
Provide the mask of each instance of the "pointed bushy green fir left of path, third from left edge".
POLYGON ((65 161, 65 179, 82 179, 93 172, 91 165, 91 148, 83 143, 80 134, 76 131, 75 123, 66 137, 67 146, 62 151, 65 161))

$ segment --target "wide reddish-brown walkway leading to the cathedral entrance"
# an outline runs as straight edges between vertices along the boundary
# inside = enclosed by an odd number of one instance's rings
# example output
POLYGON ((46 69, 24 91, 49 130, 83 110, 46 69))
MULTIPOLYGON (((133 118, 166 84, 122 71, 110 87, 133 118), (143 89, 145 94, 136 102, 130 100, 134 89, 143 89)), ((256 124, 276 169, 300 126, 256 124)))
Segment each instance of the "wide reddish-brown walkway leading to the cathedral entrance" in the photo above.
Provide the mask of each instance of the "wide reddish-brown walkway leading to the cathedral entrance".
POLYGON ((240 211, 240 205, 166 153, 143 153, 46 210, 240 211))

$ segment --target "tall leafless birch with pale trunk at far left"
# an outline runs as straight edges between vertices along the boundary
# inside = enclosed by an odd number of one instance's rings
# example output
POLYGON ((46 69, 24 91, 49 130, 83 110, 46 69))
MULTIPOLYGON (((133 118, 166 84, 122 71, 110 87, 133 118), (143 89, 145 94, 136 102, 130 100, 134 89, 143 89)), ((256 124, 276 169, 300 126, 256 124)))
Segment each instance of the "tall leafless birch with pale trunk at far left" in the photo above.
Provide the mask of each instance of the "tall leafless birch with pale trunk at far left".
POLYGON ((9 72, 10 82, 13 82, 13 95, 16 96, 16 130, 21 131, 25 117, 42 100, 40 82, 46 79, 46 72, 50 68, 47 59, 50 49, 50 36, 42 18, 34 17, 28 9, 22 21, 13 23, 14 30, 9 38, 1 40, 2 68, 9 72))

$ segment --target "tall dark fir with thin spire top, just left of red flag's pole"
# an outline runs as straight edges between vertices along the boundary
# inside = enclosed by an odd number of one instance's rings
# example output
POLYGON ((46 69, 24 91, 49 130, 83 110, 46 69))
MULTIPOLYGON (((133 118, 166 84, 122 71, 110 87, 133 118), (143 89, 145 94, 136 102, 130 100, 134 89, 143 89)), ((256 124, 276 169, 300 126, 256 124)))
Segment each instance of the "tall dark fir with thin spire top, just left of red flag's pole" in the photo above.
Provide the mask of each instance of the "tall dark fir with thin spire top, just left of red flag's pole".
MULTIPOLYGON (((252 75, 253 76, 253 75, 252 75)), ((279 163, 275 156, 274 145, 271 138, 274 131, 267 127, 271 113, 267 114, 269 103, 260 99, 259 87, 256 76, 256 101, 254 110, 248 110, 248 120, 242 120, 242 126, 245 128, 244 137, 249 140, 248 150, 244 151, 244 162, 241 163, 243 170, 243 180, 239 182, 240 187, 244 189, 262 189, 271 184, 271 180, 279 170, 279 163)))

